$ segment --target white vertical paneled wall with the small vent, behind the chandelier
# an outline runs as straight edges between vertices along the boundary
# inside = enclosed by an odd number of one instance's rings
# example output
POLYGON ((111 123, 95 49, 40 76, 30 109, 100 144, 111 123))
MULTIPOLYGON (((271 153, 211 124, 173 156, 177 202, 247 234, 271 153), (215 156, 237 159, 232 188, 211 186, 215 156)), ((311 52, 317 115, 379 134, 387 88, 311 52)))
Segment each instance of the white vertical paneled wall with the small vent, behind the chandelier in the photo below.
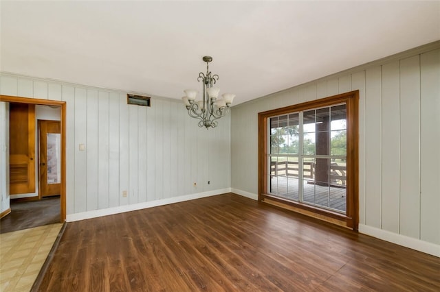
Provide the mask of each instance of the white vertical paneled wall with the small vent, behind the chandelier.
POLYGON ((67 102, 67 215, 230 188, 230 117, 208 131, 179 100, 6 73, 0 94, 67 102))

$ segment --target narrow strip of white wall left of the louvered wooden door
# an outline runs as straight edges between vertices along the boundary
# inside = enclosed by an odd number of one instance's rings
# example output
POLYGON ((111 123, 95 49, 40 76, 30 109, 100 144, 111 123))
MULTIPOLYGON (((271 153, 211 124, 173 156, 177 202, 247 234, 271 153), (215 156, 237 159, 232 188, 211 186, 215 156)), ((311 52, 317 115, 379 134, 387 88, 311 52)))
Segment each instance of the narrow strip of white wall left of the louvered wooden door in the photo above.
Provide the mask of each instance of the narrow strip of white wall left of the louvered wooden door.
POLYGON ((0 102, 0 213, 9 204, 9 104, 0 102))

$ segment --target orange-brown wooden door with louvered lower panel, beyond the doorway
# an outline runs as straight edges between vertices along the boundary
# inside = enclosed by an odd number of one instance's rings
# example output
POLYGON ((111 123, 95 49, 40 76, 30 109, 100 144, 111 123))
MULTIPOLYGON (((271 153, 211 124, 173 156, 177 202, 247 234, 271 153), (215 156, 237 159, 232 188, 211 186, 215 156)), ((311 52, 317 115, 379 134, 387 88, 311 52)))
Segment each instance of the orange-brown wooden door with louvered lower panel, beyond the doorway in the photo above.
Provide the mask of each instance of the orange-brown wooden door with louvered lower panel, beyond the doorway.
POLYGON ((10 194, 35 193, 35 105, 9 108, 10 194))

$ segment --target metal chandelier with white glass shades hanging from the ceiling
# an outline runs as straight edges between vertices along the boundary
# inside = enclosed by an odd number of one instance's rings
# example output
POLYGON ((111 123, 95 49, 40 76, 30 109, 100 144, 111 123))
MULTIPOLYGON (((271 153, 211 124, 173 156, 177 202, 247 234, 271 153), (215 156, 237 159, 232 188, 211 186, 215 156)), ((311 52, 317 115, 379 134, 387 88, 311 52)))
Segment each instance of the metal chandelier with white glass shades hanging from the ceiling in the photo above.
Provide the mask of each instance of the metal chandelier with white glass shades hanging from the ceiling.
POLYGON ((228 114, 235 95, 225 93, 221 95, 223 99, 217 99, 220 88, 212 86, 219 80, 219 75, 212 75, 209 71, 209 63, 212 61, 212 57, 204 56, 202 60, 206 62, 206 74, 200 72, 199 77, 197 77, 198 82, 203 81, 201 100, 195 100, 198 93, 195 89, 184 90, 186 96, 181 99, 184 101, 190 117, 199 119, 199 127, 206 127, 206 130, 208 130, 210 127, 217 127, 219 123, 217 120, 228 114))

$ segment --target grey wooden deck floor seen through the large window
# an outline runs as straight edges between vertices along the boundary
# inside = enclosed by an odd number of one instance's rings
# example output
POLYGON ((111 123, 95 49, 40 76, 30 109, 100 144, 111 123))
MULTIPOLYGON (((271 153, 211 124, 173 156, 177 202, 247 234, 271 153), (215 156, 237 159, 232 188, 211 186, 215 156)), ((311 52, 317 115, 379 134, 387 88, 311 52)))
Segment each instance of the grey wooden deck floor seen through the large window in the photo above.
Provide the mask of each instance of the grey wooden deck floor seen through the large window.
MULTIPOLYGON (((311 181, 310 181, 311 182, 311 181)), ((299 182, 297 178, 287 178, 285 176, 272 177, 272 186, 277 190, 277 197, 299 201, 299 182)), ((331 208, 345 213, 347 210, 347 192, 344 186, 319 186, 318 184, 305 181, 303 184, 304 202, 331 208)))

